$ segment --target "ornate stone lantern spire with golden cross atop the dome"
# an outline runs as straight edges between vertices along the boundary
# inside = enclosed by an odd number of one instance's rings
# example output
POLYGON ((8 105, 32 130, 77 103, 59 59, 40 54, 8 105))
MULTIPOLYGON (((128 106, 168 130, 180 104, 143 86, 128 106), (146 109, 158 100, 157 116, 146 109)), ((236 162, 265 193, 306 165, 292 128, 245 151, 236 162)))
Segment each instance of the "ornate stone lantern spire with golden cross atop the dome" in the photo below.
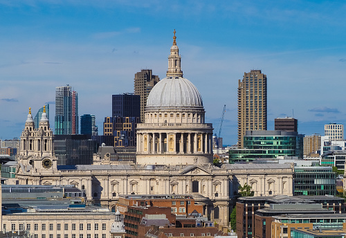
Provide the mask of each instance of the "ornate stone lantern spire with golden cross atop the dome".
POLYGON ((168 70, 167 77, 183 77, 183 71, 181 71, 181 56, 179 55, 179 48, 176 46, 176 36, 174 29, 173 45, 171 47, 171 53, 168 56, 168 70))

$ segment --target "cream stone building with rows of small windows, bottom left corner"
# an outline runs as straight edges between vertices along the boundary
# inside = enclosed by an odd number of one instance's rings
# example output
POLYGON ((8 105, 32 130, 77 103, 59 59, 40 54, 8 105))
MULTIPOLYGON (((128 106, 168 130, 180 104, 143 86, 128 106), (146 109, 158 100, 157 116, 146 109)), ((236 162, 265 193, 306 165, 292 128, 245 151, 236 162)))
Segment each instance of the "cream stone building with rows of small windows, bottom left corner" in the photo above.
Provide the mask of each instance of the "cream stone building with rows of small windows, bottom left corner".
POLYGON ((74 185, 3 185, 0 189, 3 232, 26 231, 32 238, 107 238, 119 224, 114 212, 86 205, 82 190, 74 185))

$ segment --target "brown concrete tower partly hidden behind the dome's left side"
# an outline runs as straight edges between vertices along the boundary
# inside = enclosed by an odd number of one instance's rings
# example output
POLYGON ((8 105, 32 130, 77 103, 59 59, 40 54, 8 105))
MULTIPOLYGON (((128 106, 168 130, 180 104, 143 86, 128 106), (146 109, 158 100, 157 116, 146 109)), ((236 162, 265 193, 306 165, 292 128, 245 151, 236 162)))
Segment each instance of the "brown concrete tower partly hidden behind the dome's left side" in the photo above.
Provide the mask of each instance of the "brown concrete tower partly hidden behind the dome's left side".
POLYGON ((134 75, 134 94, 140 95, 140 121, 144 122, 144 110, 147 98, 152 88, 160 81, 158 75, 153 75, 151 69, 142 69, 134 75))

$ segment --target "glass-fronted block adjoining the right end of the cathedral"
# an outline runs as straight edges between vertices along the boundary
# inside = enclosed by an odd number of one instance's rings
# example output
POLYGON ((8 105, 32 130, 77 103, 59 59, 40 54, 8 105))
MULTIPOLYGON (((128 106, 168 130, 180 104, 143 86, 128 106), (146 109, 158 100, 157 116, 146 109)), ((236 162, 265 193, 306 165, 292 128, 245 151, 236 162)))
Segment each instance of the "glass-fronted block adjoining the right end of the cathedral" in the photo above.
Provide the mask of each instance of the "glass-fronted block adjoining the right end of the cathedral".
POLYGON ((294 167, 294 195, 335 195, 336 174, 331 167, 294 167))

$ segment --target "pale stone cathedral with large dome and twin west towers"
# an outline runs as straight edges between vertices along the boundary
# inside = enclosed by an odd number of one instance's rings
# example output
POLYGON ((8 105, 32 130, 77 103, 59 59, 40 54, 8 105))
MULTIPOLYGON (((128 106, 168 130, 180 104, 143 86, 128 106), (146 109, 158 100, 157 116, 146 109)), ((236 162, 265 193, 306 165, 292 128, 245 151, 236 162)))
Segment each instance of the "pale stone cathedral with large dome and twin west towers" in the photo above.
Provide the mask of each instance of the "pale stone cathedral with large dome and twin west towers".
POLYGON ((251 185, 255 196, 292 195, 293 165, 212 165, 212 125, 196 86, 183 77, 175 32, 173 39, 167 77, 150 92, 145 122, 137 127, 136 163, 57 166, 48 120, 42 114, 34 129, 29 111, 17 156, 19 184, 75 185, 88 201, 113 210, 119 194, 192 194, 203 216, 224 226, 239 185, 251 185))

